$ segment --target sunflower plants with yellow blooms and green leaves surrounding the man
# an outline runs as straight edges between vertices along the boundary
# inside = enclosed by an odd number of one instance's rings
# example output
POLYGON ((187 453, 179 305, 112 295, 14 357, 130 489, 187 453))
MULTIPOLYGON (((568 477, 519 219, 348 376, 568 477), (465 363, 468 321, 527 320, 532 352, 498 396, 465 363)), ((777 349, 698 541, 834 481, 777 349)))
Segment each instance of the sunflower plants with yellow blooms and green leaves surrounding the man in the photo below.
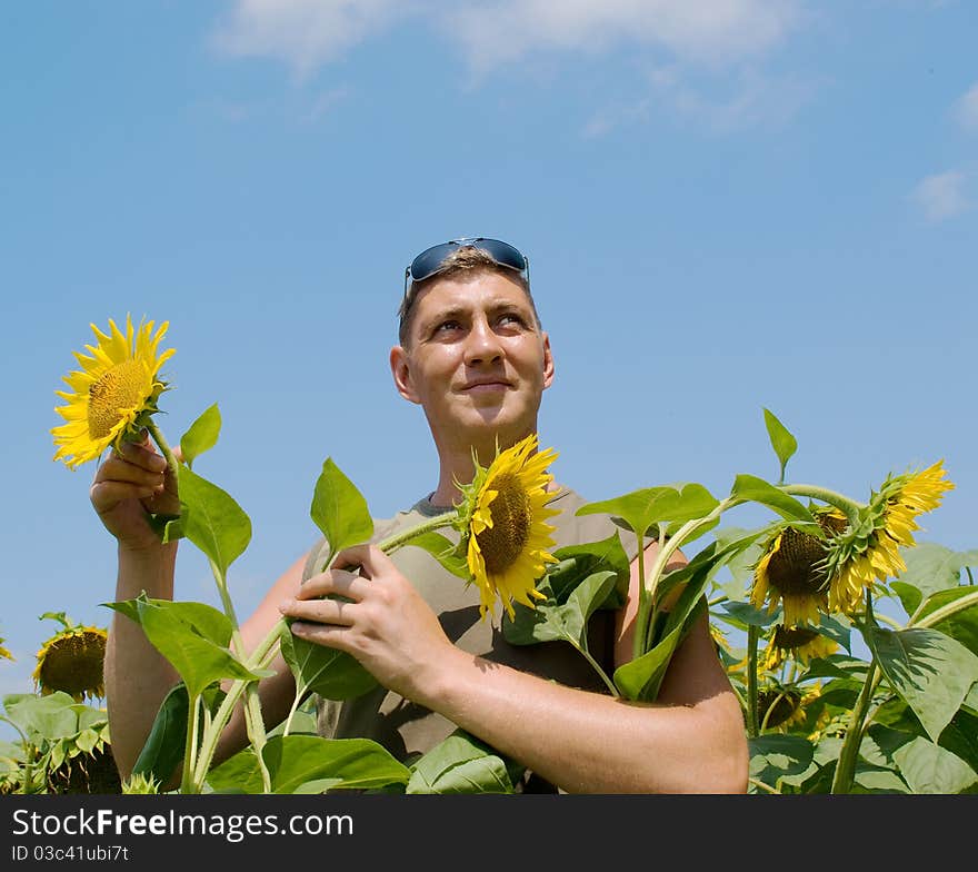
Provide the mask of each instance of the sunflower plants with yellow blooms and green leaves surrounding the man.
MULTIPOLYGON (((180 676, 126 781, 98 705, 106 631, 44 615, 61 628, 38 652, 34 693, 2 701, 0 719, 19 739, 0 743, 0 792, 515 792, 521 767, 462 731, 410 765, 369 740, 318 735, 316 696, 349 698, 376 682, 349 655, 290 633, 285 618, 244 650, 227 578, 248 546, 250 521, 192 468, 216 445, 220 414, 212 406, 191 425, 178 459, 152 422, 171 354, 158 350, 166 325, 153 327, 127 321, 123 333, 110 323, 88 356, 77 355, 82 370, 66 378, 72 393, 59 394, 68 405, 59 409, 67 423, 52 430, 56 459, 84 463, 148 430, 179 479, 179 513, 153 513, 146 495, 153 529, 203 552, 223 610, 144 595, 106 604, 137 622, 180 676), (267 731, 257 684, 279 653, 296 696, 289 716, 267 731), (249 745, 216 764, 217 737, 239 704, 249 745)), ((978 792, 978 551, 917 541, 920 517, 954 487, 944 463, 891 474, 865 495, 796 484, 787 469, 797 440, 768 409, 764 419, 776 480, 737 475, 721 496, 697 483, 647 487, 578 511, 607 514, 620 536, 635 537, 645 579, 633 656, 601 674, 608 692, 653 702, 672 653, 706 612, 741 703, 750 793, 978 792), (727 513, 745 505, 767 521, 727 524, 727 513), (646 565, 651 541, 659 548, 646 565), (679 553, 685 562, 673 559, 679 553)), ((550 548, 546 468, 557 455, 537 447, 532 437, 487 468, 477 464, 456 511, 379 544, 388 553, 425 548, 478 584, 485 612, 503 605, 501 631, 512 644, 561 641, 600 672, 587 650, 588 622, 621 604, 628 558, 617 535, 550 548), (532 548, 506 547, 505 531, 515 527, 532 531, 532 548), (458 532, 457 542, 442 529, 458 532)), ((329 543, 327 566, 373 534, 367 502, 330 458, 310 516, 329 543)))

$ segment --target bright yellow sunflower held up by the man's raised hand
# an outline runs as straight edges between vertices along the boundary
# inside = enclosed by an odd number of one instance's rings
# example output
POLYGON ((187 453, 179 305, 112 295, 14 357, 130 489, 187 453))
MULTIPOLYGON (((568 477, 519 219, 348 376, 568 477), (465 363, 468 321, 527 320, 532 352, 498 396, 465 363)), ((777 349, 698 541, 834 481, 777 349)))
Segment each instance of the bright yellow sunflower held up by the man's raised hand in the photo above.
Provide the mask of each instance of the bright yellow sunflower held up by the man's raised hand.
POLYGON ((167 389, 158 376, 173 349, 158 354, 169 323, 163 321, 156 333, 154 326, 146 321, 134 330, 128 315, 126 333, 111 319, 108 334, 91 325, 98 345, 87 345, 88 355, 74 353, 82 368, 62 379, 71 390, 54 392, 68 403, 54 409, 67 422, 51 430, 56 460, 71 469, 92 460, 138 433, 148 416, 158 412, 157 400, 167 389))

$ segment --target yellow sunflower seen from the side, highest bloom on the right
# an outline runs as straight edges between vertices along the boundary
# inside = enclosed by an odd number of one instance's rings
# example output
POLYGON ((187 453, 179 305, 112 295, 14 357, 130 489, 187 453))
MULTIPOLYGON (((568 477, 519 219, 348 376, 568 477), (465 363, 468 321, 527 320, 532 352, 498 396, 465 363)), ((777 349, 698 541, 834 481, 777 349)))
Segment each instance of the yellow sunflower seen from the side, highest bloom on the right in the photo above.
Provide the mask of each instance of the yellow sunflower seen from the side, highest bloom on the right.
POLYGON ((888 477, 872 495, 859 523, 832 537, 828 559, 829 610, 857 611, 867 587, 907 568, 900 547, 916 544, 912 534, 920 529, 917 517, 937 508, 945 493, 954 489, 946 476, 944 460, 938 460, 924 470, 888 477))

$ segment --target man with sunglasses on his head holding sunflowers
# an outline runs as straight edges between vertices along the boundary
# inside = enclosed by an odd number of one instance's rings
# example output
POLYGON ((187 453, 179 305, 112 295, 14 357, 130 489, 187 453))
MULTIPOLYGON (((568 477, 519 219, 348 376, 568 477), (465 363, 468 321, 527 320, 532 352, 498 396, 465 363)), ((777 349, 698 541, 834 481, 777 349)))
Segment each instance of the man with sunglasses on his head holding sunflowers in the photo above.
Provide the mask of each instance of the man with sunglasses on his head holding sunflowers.
MULTIPOLYGON (((528 261, 512 246, 463 239, 423 251, 408 267, 399 344, 390 367, 400 395, 419 405, 439 460, 430 495, 380 533, 449 508, 456 482, 468 483, 473 453, 488 465, 497 446, 537 432, 553 357, 530 296, 528 261)), ((138 497, 154 511, 177 506, 173 483, 148 444, 126 446, 99 469, 92 503, 119 541, 117 598, 171 598, 176 544, 161 545, 138 497)), ((577 518, 582 499, 555 501, 558 545, 591 542, 612 529, 577 518)), ((651 559, 657 544, 650 544, 651 559)), ((740 706, 717 657, 706 616, 677 650, 655 704, 602 692, 586 661, 561 643, 513 646, 478 613, 478 592, 419 548, 388 556, 375 544, 347 548, 321 572, 321 546, 272 585, 242 625, 253 646, 286 615, 297 636, 355 656, 379 688, 342 706, 323 706, 330 735, 367 735, 401 759, 423 753, 461 727, 530 773, 526 790, 580 793, 744 792, 747 745, 740 706), (351 571, 355 569, 355 571, 351 571), (339 595, 337 598, 330 595, 339 595)), ((630 554, 629 556, 635 556, 630 554)), ((649 564, 651 565, 651 564, 649 564)), ((638 605, 632 563, 628 601, 596 613, 608 666, 631 657, 638 605), (607 618, 607 620, 606 620, 607 618), (603 623, 602 623, 603 622, 603 623)), ((600 644, 600 643, 599 643, 600 644)), ((112 749, 131 770, 154 714, 178 677, 141 630, 117 616, 106 661, 112 749), (124 668, 123 668, 124 666, 124 668)), ((282 720, 295 682, 279 658, 260 687, 269 725, 282 720)), ((247 742, 243 719, 229 724, 219 756, 247 742)))

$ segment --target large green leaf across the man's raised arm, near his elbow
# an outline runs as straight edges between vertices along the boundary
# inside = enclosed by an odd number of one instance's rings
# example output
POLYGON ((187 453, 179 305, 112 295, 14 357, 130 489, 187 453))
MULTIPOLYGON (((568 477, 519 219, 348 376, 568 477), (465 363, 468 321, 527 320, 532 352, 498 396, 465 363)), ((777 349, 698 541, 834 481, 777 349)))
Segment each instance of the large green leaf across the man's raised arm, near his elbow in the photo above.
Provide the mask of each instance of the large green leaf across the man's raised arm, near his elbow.
POLYGON ((172 664, 191 696, 221 678, 258 680, 265 673, 248 670, 227 647, 231 623, 204 603, 136 600, 104 603, 138 622, 147 638, 172 664))

